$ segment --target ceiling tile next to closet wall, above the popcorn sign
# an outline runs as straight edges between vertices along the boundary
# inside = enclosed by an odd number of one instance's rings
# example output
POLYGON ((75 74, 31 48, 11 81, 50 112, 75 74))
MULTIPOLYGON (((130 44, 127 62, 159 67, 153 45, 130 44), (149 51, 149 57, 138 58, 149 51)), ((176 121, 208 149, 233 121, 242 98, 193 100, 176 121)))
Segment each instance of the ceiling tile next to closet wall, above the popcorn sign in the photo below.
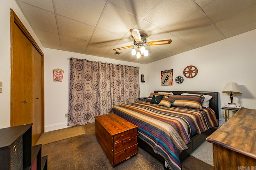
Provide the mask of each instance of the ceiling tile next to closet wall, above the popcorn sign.
POLYGON ((58 33, 52 33, 41 29, 34 29, 34 31, 41 42, 60 45, 58 33))

